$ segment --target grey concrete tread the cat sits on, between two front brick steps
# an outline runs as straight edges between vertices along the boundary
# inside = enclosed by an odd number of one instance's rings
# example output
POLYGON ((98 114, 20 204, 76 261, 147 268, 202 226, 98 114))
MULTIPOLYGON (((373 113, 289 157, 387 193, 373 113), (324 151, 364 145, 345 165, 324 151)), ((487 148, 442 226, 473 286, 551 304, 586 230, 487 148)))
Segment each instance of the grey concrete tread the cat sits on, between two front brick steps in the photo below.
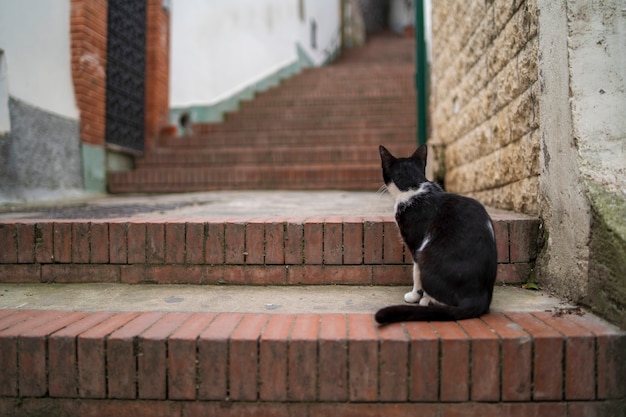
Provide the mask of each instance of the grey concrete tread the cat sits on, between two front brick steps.
MULTIPOLYGON (((0 309, 246 313, 373 313, 409 287, 0 284, 0 309)), ((569 308, 541 291, 496 287, 493 311, 569 308)))

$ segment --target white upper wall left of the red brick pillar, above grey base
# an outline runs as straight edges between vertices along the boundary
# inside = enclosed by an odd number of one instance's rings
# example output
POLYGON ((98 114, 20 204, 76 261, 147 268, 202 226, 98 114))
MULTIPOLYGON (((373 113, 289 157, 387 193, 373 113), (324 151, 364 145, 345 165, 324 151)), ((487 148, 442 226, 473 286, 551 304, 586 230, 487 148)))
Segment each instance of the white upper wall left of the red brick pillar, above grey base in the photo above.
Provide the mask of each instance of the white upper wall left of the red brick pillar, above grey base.
POLYGON ((70 0, 0 0, 0 49, 10 96, 78 118, 71 72, 70 0))

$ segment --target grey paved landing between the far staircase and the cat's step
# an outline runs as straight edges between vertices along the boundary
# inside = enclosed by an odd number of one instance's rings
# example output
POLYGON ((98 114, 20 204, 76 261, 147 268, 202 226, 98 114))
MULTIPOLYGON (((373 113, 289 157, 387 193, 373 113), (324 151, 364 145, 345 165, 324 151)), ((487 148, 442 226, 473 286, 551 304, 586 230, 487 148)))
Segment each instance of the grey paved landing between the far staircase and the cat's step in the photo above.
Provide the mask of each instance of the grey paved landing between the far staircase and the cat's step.
MULTIPOLYGON (((512 215, 495 209, 489 209, 489 212, 494 217, 512 215)), ((0 220, 391 215, 393 201, 389 195, 358 191, 214 191, 108 195, 47 203, 0 205, 0 220)))

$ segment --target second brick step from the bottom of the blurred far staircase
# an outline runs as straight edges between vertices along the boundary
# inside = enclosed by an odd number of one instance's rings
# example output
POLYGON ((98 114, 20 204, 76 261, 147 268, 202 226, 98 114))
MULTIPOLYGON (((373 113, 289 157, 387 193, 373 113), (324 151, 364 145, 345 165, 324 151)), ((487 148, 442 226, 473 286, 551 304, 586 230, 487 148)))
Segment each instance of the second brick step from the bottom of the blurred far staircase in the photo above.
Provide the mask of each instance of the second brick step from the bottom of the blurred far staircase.
MULTIPOLYGON (((396 146, 399 154, 410 155, 414 146, 396 146)), ((298 148, 278 146, 219 147, 216 149, 162 148, 137 159, 138 169, 148 166, 167 167, 172 165, 191 167, 236 164, 302 165, 315 161, 317 164, 332 163, 379 163, 378 146, 301 146, 298 148)))

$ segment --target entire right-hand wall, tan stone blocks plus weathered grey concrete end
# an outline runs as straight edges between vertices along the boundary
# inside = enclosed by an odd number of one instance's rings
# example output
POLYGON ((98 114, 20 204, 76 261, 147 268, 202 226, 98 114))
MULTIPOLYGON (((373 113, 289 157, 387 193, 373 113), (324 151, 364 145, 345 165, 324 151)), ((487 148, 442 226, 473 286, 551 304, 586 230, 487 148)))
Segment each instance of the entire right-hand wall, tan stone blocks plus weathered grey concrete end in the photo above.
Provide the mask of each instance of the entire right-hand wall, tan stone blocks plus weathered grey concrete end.
POLYGON ((434 2, 433 174, 537 215, 545 288, 626 326, 623 2, 434 2))

